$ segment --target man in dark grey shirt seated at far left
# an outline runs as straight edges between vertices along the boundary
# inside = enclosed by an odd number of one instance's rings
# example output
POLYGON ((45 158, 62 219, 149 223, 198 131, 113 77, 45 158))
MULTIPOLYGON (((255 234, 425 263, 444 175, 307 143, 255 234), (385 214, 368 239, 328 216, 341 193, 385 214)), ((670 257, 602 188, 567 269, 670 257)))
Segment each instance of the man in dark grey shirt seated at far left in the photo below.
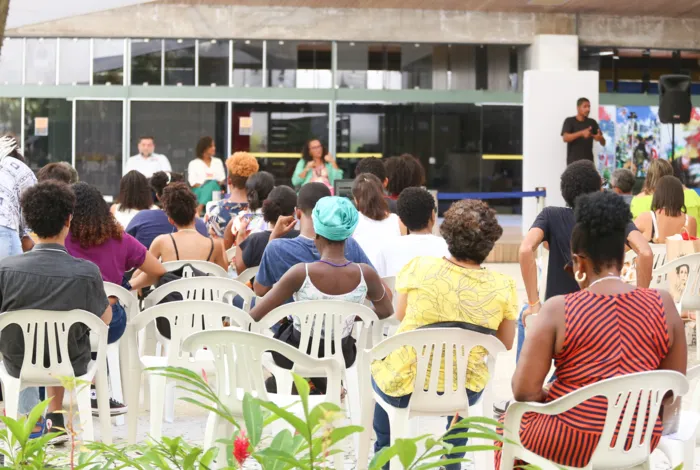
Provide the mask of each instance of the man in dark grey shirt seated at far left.
MULTIPOLYGON (((100 270, 89 261, 70 256, 64 246, 75 205, 73 191, 66 184, 44 181, 25 190, 21 204, 24 219, 39 242, 32 251, 0 261, 0 312, 78 309, 97 315, 109 325, 112 309, 105 295, 100 270)), ((19 377, 24 361, 20 326, 10 325, 2 331, 0 352, 10 375, 19 377)), ((68 356, 75 375, 84 375, 90 362, 90 336, 84 325, 74 325, 70 329, 68 356)), ((45 357, 48 360, 48 349, 45 357)), ((63 393, 62 387, 47 388, 47 396, 52 400, 46 419, 39 423, 39 435, 43 430, 65 428, 60 411, 63 393)), ((20 395, 19 411, 28 413, 38 403, 38 389, 27 389, 20 395)), ((65 440, 66 436, 61 439, 65 440)))

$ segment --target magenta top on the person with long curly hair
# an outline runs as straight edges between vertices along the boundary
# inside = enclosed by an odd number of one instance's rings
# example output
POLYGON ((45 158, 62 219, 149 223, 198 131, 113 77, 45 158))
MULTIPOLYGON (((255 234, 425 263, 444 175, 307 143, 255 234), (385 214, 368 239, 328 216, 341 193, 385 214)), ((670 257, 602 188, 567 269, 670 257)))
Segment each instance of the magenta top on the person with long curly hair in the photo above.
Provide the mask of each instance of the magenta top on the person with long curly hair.
POLYGON ((92 261, 100 268, 102 280, 122 285, 124 273, 140 267, 146 260, 146 247, 124 232, 121 240, 111 238, 99 246, 82 248, 73 234, 66 238, 66 250, 75 258, 92 261))

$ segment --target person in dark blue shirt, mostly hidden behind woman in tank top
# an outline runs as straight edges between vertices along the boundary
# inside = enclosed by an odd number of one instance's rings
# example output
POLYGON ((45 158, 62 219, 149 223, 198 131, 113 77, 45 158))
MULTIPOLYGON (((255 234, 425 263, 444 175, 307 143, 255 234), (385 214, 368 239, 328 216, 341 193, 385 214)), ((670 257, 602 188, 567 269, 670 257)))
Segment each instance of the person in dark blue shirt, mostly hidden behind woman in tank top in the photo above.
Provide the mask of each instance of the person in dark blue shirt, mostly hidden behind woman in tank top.
MULTIPOLYGON (((154 173, 151 177, 151 189, 160 203, 163 197, 163 190, 166 186, 183 181, 185 181, 185 177, 182 173, 165 173, 159 171, 154 173)), ((209 235, 204 221, 199 218, 195 220, 195 229, 200 235, 204 235, 205 237, 209 235)), ((131 222, 129 222, 129 225, 126 227, 126 233, 137 239, 146 248, 151 247, 153 240, 155 240, 158 235, 166 235, 176 231, 177 228, 170 223, 168 216, 162 209, 141 211, 131 219, 131 222)))

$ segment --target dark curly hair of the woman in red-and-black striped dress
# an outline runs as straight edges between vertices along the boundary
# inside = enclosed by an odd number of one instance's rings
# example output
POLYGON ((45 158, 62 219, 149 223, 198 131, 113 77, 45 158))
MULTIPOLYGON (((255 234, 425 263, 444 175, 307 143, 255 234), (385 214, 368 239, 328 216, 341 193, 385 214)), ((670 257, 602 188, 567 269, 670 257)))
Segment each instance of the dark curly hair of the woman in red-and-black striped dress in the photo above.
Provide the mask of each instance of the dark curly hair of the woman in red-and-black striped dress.
POLYGON ((625 200, 610 192, 585 194, 576 201, 574 215, 571 251, 585 255, 596 273, 607 266, 622 269, 627 226, 632 221, 625 200))

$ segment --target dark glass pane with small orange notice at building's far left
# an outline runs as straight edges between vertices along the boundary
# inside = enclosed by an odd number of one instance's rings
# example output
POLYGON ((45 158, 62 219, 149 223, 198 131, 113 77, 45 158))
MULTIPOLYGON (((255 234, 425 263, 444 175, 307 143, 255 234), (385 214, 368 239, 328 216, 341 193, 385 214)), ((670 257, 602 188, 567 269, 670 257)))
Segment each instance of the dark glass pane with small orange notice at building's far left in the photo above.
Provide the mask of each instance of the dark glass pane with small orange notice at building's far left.
POLYGON ((72 103, 66 99, 24 100, 24 156, 34 171, 51 162, 71 162, 72 103))

